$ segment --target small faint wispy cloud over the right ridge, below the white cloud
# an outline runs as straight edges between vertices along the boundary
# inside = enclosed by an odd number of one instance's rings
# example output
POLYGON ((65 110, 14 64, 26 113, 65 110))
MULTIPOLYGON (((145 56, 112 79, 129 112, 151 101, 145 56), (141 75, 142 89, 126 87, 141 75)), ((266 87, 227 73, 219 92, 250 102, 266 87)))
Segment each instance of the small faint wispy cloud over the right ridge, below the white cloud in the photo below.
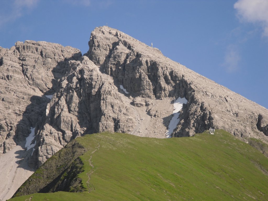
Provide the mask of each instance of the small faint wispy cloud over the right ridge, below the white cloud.
POLYGON ((239 69, 239 61, 241 60, 239 51, 235 45, 229 45, 226 49, 224 64, 228 73, 234 73, 239 69))

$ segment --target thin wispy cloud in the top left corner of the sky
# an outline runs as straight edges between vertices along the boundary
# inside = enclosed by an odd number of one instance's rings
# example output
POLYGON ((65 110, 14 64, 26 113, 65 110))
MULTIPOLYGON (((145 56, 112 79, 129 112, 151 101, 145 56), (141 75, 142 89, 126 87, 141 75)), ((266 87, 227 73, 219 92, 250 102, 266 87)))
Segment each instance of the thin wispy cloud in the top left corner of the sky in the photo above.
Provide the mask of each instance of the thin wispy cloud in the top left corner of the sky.
MULTIPOLYGON (((34 8, 39 0, 13 0, 8 1, 8 4, 3 5, 0 14, 0 25, 15 21, 17 18, 23 16, 25 10, 34 8)), ((3 3, 3 2, 2 2, 3 3)))

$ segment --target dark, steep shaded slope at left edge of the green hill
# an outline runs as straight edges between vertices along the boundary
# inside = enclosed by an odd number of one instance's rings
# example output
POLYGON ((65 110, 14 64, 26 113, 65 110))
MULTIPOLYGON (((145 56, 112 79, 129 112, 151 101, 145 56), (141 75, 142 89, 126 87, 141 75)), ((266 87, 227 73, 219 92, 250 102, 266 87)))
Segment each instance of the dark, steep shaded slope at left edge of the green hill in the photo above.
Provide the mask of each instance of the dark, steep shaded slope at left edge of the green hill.
POLYGON ((49 158, 31 177, 17 190, 15 196, 29 195, 35 192, 84 191, 81 178, 77 174, 83 170, 83 162, 79 158, 86 149, 73 140, 53 157, 49 158))

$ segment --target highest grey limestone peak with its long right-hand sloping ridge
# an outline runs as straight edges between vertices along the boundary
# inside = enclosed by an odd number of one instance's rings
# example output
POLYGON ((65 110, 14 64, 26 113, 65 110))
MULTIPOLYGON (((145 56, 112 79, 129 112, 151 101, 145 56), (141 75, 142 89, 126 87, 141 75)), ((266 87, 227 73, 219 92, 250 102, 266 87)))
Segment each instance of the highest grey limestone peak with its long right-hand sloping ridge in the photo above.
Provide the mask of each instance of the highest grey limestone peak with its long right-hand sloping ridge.
POLYGON ((267 142, 267 109, 164 57, 158 49, 109 27, 95 28, 89 45, 89 58, 131 96, 188 100, 173 136, 215 127, 267 142))

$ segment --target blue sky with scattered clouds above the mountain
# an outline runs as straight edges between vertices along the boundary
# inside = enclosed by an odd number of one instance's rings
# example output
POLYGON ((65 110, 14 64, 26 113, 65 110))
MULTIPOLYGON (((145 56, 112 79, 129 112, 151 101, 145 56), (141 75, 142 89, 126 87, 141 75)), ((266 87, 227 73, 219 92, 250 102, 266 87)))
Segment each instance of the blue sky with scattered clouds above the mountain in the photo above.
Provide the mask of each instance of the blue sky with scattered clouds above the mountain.
POLYGON ((268 0, 1 0, 0 46, 36 40, 84 54, 108 25, 268 108, 268 0))

